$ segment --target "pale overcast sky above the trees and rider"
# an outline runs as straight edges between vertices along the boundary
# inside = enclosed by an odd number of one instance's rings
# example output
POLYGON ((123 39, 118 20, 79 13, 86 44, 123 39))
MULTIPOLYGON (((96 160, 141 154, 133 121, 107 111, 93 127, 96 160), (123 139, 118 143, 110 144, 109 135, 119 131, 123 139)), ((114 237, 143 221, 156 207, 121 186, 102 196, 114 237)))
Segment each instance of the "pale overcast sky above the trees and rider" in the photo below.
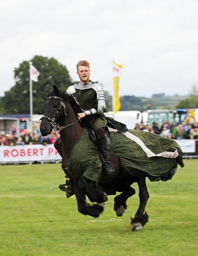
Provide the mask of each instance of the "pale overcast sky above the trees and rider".
POLYGON ((188 95, 198 84, 197 0, 6 0, 0 24, 0 96, 35 55, 55 58, 73 80, 77 62, 89 61, 110 94, 115 60, 121 96, 188 95))

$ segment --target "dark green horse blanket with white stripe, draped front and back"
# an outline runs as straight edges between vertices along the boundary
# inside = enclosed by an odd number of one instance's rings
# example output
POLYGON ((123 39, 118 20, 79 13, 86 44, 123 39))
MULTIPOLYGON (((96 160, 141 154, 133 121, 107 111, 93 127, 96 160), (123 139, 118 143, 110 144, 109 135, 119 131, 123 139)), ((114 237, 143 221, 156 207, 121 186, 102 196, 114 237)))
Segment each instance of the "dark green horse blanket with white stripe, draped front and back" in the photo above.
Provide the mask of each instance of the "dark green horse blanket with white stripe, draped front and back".
MULTIPOLYGON (((109 155, 120 158, 126 175, 135 177, 141 171, 148 177, 160 177, 177 167, 177 163, 183 167, 182 150, 174 140, 141 130, 110 132, 110 140, 109 155)), ((99 146, 91 141, 86 129, 73 146, 67 166, 76 177, 99 181, 102 171, 99 146)))

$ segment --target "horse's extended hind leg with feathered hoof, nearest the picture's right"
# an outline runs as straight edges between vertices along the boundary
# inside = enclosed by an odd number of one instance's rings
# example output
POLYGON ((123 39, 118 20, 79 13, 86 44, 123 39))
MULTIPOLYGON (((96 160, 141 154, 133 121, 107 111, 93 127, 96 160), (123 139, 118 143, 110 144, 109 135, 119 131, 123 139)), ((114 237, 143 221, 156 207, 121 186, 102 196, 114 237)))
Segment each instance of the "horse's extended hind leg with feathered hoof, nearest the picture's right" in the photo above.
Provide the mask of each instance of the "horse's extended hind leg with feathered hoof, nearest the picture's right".
POLYGON ((148 214, 145 212, 145 207, 149 198, 146 178, 138 181, 140 205, 135 214, 135 218, 131 218, 132 231, 142 228, 148 222, 148 214), (144 213, 145 212, 145 213, 144 213))

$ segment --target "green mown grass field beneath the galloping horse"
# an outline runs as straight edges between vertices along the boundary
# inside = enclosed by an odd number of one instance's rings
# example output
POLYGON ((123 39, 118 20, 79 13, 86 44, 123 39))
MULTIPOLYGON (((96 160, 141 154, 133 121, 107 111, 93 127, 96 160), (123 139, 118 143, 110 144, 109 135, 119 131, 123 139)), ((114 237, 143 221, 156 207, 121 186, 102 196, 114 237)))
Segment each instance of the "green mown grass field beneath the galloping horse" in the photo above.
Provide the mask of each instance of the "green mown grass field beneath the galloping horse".
POLYGON ((147 182, 147 225, 131 232, 138 204, 116 217, 113 196, 97 219, 66 199, 60 164, 0 166, 0 255, 198 255, 198 160, 185 160, 173 180, 147 182))

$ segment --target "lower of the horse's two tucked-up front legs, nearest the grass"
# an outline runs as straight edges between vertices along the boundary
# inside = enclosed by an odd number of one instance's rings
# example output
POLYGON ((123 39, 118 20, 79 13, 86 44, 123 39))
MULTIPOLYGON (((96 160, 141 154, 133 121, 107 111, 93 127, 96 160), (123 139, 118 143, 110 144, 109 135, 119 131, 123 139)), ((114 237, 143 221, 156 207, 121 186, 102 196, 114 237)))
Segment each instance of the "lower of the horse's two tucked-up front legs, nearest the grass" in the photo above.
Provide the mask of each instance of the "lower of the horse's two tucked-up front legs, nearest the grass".
POLYGON ((77 200, 78 211, 82 214, 90 215, 95 218, 99 217, 99 214, 103 211, 104 207, 99 204, 88 205, 86 202, 86 195, 79 188, 76 180, 73 182, 73 190, 77 200))

